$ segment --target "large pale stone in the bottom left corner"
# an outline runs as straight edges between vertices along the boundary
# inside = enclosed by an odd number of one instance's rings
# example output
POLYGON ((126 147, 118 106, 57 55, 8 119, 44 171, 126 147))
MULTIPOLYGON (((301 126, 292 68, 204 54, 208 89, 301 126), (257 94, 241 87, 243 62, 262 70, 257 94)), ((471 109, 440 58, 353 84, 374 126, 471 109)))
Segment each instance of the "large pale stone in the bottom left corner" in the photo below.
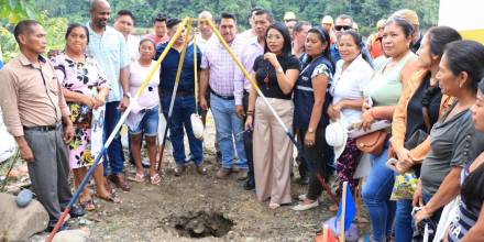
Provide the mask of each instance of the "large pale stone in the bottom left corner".
POLYGON ((48 224, 48 213, 41 202, 32 200, 19 208, 16 198, 9 194, 0 194, 0 241, 26 241, 48 224))

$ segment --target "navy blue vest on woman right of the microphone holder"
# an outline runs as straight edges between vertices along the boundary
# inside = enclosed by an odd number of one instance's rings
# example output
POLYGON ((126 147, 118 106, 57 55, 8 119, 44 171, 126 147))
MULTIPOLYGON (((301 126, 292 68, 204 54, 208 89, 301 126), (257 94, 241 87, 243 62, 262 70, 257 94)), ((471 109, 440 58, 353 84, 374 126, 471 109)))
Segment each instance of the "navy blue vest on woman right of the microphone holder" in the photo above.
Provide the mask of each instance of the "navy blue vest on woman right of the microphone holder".
POLYGON ((332 74, 334 73, 333 64, 324 56, 320 56, 309 64, 302 66, 302 72, 294 89, 294 120, 293 127, 306 130, 311 118, 312 106, 315 105, 315 95, 312 91, 311 75, 317 66, 326 64, 331 72, 328 79, 328 87, 324 97, 324 105, 322 106, 321 119, 319 120, 318 129, 323 129, 329 124, 328 106, 332 102, 332 96, 329 94, 329 88, 332 82, 332 74))

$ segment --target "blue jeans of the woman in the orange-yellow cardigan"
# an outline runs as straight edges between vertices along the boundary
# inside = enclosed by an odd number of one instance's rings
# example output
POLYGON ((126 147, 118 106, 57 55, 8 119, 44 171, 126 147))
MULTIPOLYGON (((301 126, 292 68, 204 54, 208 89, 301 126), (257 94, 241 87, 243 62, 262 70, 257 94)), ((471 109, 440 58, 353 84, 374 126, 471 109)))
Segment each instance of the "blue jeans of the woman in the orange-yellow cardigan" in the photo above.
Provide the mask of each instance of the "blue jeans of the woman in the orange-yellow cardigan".
POLYGON ((414 234, 411 200, 397 200, 395 213, 395 242, 410 242, 414 234))

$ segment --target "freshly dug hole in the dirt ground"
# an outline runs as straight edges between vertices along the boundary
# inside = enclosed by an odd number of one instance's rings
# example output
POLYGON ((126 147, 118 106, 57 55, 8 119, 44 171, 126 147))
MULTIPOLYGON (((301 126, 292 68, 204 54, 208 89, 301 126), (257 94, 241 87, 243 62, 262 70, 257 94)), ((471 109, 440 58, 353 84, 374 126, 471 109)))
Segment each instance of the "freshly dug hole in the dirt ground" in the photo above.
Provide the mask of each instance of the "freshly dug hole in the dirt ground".
POLYGON ((226 235, 234 224, 232 220, 226 219, 220 212, 188 212, 183 216, 172 216, 169 223, 176 229, 180 237, 206 238, 226 235))

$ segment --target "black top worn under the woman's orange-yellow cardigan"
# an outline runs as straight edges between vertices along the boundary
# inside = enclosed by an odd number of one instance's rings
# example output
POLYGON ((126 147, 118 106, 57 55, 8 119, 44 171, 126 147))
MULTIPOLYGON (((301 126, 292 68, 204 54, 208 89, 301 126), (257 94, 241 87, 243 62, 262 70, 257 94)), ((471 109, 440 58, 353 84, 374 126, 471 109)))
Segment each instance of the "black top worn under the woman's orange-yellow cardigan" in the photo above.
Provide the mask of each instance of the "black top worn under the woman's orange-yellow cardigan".
POLYGON ((417 130, 426 130, 422 117, 422 106, 427 106, 430 117, 430 125, 439 119, 440 100, 442 92, 439 86, 430 87, 430 75, 427 75, 420 87, 415 91, 407 106, 407 129, 405 140, 408 140, 417 130))

